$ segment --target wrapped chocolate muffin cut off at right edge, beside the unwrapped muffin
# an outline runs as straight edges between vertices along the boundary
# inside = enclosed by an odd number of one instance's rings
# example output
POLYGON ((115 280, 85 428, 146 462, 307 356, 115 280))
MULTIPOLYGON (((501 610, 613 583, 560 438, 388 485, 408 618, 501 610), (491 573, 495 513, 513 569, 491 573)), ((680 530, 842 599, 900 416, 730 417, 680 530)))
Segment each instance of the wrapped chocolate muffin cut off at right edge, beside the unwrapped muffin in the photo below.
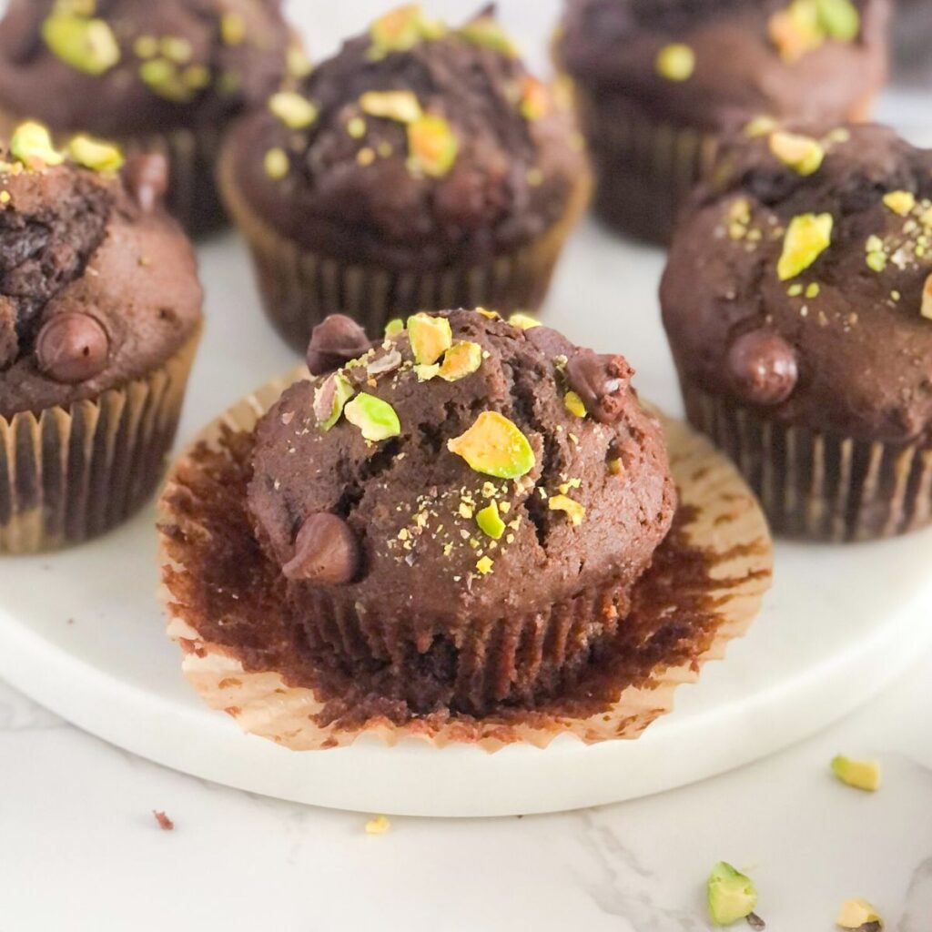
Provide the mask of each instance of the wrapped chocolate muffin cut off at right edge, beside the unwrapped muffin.
POLYGON ((731 144, 671 249, 664 322, 692 423, 779 533, 932 518, 932 152, 893 130, 731 144))

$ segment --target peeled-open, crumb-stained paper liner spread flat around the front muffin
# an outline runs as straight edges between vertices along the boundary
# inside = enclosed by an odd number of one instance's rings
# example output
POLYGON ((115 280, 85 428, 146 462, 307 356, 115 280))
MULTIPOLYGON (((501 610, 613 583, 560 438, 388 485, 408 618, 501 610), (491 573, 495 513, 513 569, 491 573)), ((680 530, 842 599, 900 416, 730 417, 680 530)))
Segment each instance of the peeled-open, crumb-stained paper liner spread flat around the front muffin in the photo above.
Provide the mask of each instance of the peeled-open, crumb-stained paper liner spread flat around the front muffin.
POLYGON ((299 750, 347 745, 362 733, 388 744, 415 736, 489 751, 514 742, 545 747, 560 733, 587 743, 634 738, 672 709, 676 687, 722 657, 759 610, 772 569, 761 511, 706 440, 665 420, 678 520, 637 584, 631 612, 574 685, 546 701, 500 704, 481 718, 444 708, 412 715, 390 690, 380 692, 377 677, 349 676, 336 651, 305 650, 296 661, 281 618, 279 568, 264 560, 244 502, 255 423, 302 377, 297 370, 268 383, 213 422, 175 464, 159 505, 169 635, 205 702, 245 732, 299 750), (210 636, 199 631, 207 627, 210 636), (225 643, 224 630, 239 637, 225 643))

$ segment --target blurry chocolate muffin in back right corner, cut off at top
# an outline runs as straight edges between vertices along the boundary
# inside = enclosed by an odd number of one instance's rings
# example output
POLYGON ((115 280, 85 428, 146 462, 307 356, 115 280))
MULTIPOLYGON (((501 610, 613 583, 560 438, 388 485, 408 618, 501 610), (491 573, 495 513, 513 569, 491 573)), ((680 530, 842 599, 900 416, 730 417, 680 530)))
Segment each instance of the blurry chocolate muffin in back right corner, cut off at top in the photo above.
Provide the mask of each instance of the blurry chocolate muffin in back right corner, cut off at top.
POLYGON ((889 0, 568 0, 555 42, 596 169, 596 205, 668 242, 722 133, 867 118, 889 0))

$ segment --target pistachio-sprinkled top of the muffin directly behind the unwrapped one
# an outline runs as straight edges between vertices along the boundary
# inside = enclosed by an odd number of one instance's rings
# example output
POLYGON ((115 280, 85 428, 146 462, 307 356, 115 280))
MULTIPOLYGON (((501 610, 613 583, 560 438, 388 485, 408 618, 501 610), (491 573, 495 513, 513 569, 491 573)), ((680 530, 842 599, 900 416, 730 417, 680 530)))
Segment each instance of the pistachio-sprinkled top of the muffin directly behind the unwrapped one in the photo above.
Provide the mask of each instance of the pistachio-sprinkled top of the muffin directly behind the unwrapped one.
POLYGON ((491 13, 459 29, 401 7, 234 132, 236 187, 292 240, 434 267, 523 245, 585 176, 566 101, 491 13))

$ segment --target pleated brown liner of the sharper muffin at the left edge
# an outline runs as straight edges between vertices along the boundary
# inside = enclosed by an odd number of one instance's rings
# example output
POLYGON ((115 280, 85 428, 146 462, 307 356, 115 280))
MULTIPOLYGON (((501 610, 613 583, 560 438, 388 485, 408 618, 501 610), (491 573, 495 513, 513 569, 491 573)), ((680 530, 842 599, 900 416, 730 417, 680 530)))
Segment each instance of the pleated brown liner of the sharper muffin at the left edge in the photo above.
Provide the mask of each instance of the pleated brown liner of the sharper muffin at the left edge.
POLYGON ((0 554, 87 541, 133 514, 171 449, 199 330, 150 375, 68 407, 0 417, 0 554))

